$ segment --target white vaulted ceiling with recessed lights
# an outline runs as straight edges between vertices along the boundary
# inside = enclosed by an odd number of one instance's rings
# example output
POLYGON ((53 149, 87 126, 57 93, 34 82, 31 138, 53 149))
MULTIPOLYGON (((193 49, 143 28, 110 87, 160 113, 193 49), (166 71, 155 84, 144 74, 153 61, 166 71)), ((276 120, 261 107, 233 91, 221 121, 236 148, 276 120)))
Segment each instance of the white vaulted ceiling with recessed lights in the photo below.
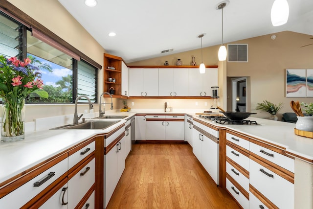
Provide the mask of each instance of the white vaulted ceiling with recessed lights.
MULTIPOLYGON (((103 46, 126 63, 222 43, 222 0, 59 0, 67 11, 103 46), (109 37, 114 31, 117 35, 109 37), (167 54, 169 54, 167 53, 167 54)), ((224 43, 294 31, 313 35, 313 0, 288 0, 288 23, 274 27, 274 0, 229 0, 224 8, 224 43)), ((313 44, 308 39, 307 44, 313 44)))

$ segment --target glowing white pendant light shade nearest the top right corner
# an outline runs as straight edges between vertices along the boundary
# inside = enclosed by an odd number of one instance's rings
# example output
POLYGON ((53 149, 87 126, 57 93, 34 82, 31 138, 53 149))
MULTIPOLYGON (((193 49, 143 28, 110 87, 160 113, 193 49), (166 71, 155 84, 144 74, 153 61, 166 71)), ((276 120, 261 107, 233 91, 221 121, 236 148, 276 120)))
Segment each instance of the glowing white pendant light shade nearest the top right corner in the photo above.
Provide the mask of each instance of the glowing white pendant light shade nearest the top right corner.
POLYGON ((273 26, 287 23, 289 16, 289 5, 287 0, 275 0, 270 10, 270 19, 273 26))

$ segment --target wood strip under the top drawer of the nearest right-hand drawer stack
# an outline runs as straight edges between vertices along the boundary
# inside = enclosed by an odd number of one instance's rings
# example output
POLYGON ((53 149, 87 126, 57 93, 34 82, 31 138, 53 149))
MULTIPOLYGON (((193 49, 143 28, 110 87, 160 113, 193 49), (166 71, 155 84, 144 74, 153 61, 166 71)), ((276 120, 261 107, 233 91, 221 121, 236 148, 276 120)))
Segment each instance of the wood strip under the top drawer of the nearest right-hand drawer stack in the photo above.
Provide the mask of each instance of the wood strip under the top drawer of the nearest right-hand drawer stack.
POLYGON ((270 161, 268 161, 264 158, 261 158, 260 156, 254 154, 252 152, 250 153, 250 160, 253 160, 253 161, 259 163, 260 165, 266 167, 268 170, 271 170, 272 172, 276 173, 277 175, 283 177, 287 181, 294 184, 294 173, 292 173, 291 171, 289 171, 283 167, 280 167, 275 163, 271 163, 270 161))

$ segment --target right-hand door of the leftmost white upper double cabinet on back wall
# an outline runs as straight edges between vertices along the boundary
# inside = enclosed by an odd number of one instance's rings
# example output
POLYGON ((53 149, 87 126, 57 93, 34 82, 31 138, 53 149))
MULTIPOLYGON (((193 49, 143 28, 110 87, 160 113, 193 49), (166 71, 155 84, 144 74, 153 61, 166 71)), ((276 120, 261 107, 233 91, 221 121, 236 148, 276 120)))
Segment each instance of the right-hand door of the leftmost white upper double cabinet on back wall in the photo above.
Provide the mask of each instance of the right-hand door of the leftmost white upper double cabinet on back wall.
POLYGON ((158 69, 144 69, 144 96, 158 96, 158 69))

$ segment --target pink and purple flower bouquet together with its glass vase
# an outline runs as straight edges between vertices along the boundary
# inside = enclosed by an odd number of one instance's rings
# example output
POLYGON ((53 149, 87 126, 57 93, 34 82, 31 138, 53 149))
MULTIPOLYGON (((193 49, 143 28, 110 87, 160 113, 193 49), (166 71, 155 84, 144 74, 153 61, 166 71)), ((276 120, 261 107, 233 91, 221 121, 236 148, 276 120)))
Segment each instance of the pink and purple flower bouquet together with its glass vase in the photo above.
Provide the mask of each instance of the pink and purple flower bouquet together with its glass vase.
POLYGON ((30 93, 47 98, 39 68, 16 57, 0 55, 0 97, 2 98, 1 141, 24 139, 24 105, 30 93))

